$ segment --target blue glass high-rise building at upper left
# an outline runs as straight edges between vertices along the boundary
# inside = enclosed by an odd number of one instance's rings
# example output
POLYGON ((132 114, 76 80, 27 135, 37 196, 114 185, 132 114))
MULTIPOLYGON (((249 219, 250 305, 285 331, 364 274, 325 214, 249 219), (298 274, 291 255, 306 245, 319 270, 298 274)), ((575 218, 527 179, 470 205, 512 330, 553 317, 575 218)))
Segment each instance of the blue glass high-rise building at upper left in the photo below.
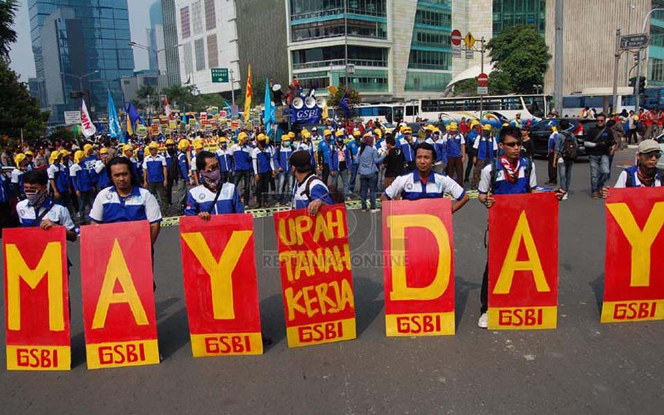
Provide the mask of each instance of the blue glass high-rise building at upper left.
POLYGON ((120 78, 133 74, 127 0, 28 0, 37 77, 44 78, 50 122, 78 109, 73 91, 89 99, 91 115, 107 111, 107 89, 122 102, 120 78))

